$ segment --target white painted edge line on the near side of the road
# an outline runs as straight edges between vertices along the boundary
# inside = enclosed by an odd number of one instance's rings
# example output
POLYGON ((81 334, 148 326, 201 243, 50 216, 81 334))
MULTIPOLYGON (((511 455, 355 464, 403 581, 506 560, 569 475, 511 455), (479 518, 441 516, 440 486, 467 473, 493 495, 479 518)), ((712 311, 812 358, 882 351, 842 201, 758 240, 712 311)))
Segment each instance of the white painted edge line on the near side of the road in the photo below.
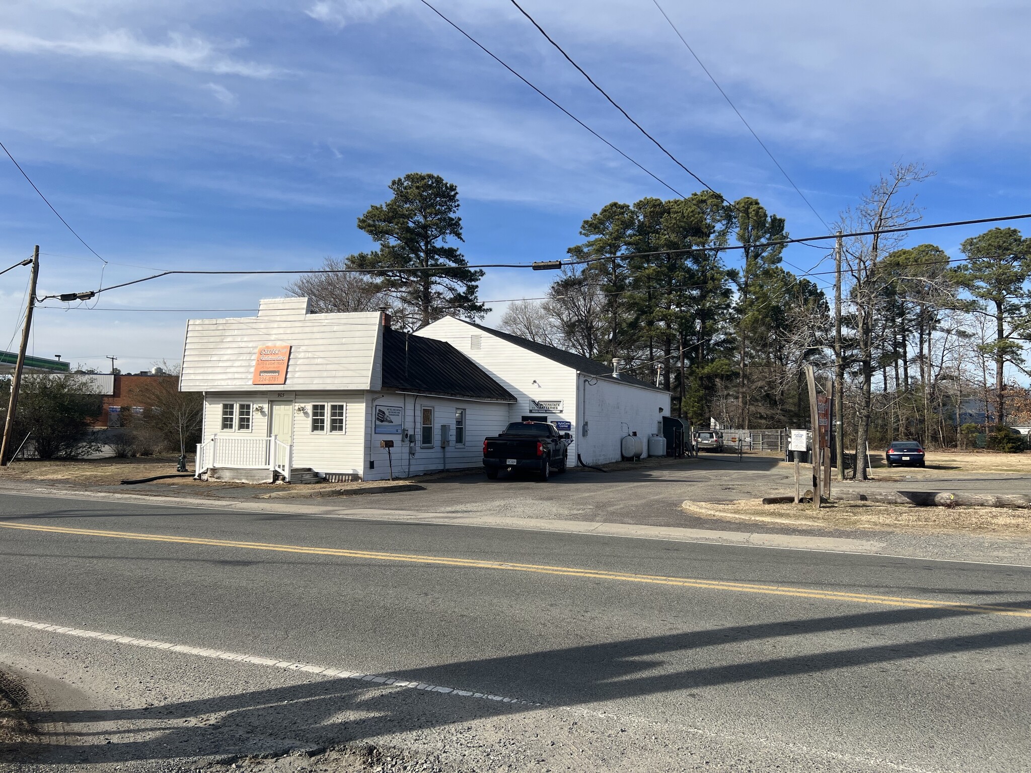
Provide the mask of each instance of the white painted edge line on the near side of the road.
POLYGON ((352 671, 341 668, 325 668, 310 663, 295 663, 294 661, 280 661, 275 658, 262 658, 243 652, 230 652, 222 649, 211 649, 210 647, 194 647, 188 644, 170 644, 152 639, 138 639, 132 636, 122 636, 121 634, 102 634, 99 631, 86 631, 67 626, 55 626, 49 623, 34 623, 20 617, 9 617, 0 615, 0 624, 5 626, 19 626, 21 628, 33 628, 47 633, 65 634, 67 636, 78 636, 86 639, 98 639, 110 641, 115 644, 130 644, 134 647, 151 647, 155 649, 166 649, 171 652, 181 652, 184 654, 196 654, 201 658, 213 658, 217 660, 239 661, 240 663, 252 663, 257 666, 271 666, 290 671, 304 671, 310 674, 329 676, 336 679, 355 679, 366 681, 370 685, 383 685, 394 687, 408 687, 410 690, 421 690, 425 693, 443 693, 446 695, 460 696, 462 698, 478 698, 488 701, 498 701, 500 703, 512 703, 521 706, 539 706, 539 703, 532 703, 518 698, 507 698, 505 696, 493 695, 490 693, 476 693, 471 690, 459 690, 458 687, 445 687, 439 684, 429 684, 422 681, 410 681, 407 679, 396 679, 390 676, 379 676, 377 674, 366 674, 361 671, 352 671))

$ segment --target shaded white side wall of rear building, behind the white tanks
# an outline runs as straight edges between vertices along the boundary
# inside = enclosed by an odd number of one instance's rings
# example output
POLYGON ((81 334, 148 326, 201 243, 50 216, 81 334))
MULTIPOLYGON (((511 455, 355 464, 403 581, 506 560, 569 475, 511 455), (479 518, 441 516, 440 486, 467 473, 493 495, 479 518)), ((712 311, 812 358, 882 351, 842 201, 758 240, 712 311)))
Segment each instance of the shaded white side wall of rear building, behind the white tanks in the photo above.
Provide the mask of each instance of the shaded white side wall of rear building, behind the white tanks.
POLYGON ((587 379, 580 393, 584 419, 590 432, 579 438, 580 456, 589 465, 618 462, 620 443, 637 433, 647 456, 647 438, 660 432, 663 416, 669 415, 669 393, 621 384, 604 378, 587 379), (662 408, 662 411, 659 409, 662 408))

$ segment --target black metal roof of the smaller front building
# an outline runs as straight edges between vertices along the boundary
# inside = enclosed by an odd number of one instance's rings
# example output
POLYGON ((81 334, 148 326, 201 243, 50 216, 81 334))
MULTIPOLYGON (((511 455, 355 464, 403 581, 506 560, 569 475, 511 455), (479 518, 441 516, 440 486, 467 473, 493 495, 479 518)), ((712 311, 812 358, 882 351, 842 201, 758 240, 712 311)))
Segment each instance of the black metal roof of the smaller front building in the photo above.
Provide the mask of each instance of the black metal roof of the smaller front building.
POLYGON ((516 402, 472 360, 445 341, 384 328, 383 385, 447 397, 516 402))

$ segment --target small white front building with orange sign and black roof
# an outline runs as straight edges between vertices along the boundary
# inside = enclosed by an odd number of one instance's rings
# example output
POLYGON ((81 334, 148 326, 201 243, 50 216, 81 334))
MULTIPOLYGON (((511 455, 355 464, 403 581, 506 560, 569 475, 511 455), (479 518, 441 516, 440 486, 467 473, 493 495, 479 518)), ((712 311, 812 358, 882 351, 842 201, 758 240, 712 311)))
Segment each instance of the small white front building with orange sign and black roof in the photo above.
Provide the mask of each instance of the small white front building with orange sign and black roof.
POLYGON ((379 312, 310 314, 306 298, 191 320, 179 389, 204 393, 197 474, 251 482, 479 467, 516 402, 445 342, 379 312))

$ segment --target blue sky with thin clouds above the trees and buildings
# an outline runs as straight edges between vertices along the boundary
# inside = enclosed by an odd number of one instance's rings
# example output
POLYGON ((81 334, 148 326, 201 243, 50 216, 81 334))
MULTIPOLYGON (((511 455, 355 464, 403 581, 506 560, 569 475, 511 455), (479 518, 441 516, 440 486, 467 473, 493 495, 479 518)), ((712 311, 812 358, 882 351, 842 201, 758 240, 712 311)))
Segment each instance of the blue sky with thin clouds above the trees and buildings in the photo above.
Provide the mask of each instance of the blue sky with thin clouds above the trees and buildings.
MULTIPOLYGON (((697 189, 510 3, 434 4, 674 188, 697 189)), ((1031 210, 1027 2, 663 5, 824 220, 900 160, 936 172, 919 189, 928 222, 1031 210)), ((728 199, 759 198, 795 236, 825 231, 652 0, 525 7, 728 199)), ((8 0, 0 72, 0 140, 109 261, 105 283, 152 268, 308 268, 368 248, 356 217, 408 171, 458 184, 473 263, 560 258, 608 201, 666 195, 419 0, 8 0)), ((978 232, 912 242, 957 254, 978 232)), ((41 293, 98 285, 101 262, 4 160, 0 268, 35 243, 41 293)), ((798 246, 787 260, 821 256, 798 246)), ((0 277, 0 348, 26 278, 0 277)), ((481 297, 539 296, 548 278, 493 271, 481 297)), ((41 310, 32 349, 97 367, 113 355, 127 370, 174 362, 186 318, 223 314, 119 309, 255 308, 284 283, 113 291, 93 310, 41 310)), ((490 305, 496 322, 504 303, 490 305)))

